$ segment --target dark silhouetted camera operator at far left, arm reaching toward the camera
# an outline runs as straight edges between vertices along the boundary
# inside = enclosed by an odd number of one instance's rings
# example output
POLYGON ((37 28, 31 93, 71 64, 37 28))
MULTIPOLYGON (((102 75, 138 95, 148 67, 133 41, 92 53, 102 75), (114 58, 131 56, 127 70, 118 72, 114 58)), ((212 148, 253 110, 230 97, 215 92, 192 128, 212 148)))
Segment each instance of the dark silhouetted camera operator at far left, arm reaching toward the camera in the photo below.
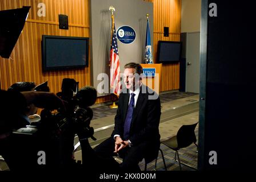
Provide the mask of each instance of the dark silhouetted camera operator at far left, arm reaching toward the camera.
POLYGON ((28 135, 13 134, 13 131, 30 124, 28 115, 31 111, 33 113, 35 111, 31 106, 51 109, 65 108, 63 101, 53 93, 23 92, 31 90, 32 87, 34 84, 31 82, 26 84, 19 82, 14 85, 14 89, 0 90, 0 155, 3 156, 11 170, 33 169, 37 162, 37 154, 34 151, 37 141, 29 138, 28 135), (21 89, 22 92, 19 92, 18 87, 21 85, 25 85, 27 89, 21 89))

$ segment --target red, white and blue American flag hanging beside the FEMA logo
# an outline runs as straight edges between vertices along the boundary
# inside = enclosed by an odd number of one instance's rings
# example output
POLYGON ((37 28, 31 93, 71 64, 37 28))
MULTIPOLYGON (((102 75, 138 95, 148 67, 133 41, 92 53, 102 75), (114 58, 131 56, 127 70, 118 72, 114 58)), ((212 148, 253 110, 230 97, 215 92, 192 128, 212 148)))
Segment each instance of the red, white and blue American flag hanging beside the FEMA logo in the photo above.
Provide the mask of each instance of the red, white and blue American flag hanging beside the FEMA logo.
POLYGON ((110 48, 110 89, 111 93, 119 96, 121 91, 120 66, 117 46, 117 35, 115 31, 114 15, 111 15, 111 48, 110 48))

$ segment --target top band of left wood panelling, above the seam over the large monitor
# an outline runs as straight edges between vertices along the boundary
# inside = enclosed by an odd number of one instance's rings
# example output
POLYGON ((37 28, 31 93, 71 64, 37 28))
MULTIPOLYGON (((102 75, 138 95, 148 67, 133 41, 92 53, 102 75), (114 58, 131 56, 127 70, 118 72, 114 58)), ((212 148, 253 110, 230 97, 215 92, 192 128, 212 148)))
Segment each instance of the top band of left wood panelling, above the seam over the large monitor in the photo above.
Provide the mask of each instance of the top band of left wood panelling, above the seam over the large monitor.
POLYGON ((0 10, 31 6, 27 19, 57 23, 58 14, 69 16, 69 24, 89 27, 89 0, 1 0, 0 10), (46 16, 38 16, 38 4, 46 6, 46 16))

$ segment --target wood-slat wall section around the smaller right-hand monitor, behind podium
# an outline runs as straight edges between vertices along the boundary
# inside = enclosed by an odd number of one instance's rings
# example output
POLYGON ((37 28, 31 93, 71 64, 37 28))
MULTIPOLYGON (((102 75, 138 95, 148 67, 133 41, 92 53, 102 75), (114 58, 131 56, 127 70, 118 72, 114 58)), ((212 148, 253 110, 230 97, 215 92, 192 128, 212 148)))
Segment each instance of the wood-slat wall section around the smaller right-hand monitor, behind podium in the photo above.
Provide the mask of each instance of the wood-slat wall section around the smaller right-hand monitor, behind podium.
MULTIPOLYGON (((179 41, 181 35, 181 0, 145 0, 154 6, 154 63, 157 60, 159 40, 179 41), (169 37, 163 36, 163 27, 169 27, 169 37)), ((179 89, 179 64, 163 64, 160 91, 179 89)))

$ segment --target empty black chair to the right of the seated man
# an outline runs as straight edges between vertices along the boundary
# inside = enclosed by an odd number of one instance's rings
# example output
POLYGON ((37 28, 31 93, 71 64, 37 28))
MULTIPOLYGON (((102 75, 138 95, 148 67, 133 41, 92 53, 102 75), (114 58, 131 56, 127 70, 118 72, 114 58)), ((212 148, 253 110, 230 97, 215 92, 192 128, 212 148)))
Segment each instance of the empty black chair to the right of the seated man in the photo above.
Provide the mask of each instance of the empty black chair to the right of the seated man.
POLYGON ((181 164, 183 164, 187 167, 197 170, 189 164, 182 163, 181 160, 179 160, 179 149, 188 147, 192 143, 197 146, 197 137, 195 137, 195 127, 197 126, 197 123, 193 125, 182 125, 181 128, 178 130, 177 135, 161 142, 162 144, 165 144, 167 147, 175 151, 175 161, 179 163, 180 169, 181 164), (178 160, 176 159, 176 156, 178 156, 178 160))

